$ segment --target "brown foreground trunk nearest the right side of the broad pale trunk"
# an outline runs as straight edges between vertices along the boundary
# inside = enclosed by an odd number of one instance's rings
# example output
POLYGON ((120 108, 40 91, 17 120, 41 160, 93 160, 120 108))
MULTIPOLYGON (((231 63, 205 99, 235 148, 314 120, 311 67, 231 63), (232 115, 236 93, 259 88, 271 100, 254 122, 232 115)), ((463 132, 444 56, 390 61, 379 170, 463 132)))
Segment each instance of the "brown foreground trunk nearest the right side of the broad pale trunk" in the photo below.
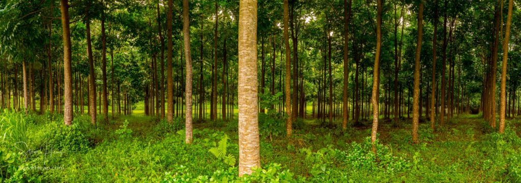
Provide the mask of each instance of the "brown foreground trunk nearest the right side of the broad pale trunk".
POLYGON ((288 119, 286 120, 286 135, 291 136, 292 107, 291 107, 291 50, 289 41, 289 5, 288 0, 284 0, 284 48, 286 49, 286 77, 284 78, 284 95, 286 96, 286 113, 288 119))

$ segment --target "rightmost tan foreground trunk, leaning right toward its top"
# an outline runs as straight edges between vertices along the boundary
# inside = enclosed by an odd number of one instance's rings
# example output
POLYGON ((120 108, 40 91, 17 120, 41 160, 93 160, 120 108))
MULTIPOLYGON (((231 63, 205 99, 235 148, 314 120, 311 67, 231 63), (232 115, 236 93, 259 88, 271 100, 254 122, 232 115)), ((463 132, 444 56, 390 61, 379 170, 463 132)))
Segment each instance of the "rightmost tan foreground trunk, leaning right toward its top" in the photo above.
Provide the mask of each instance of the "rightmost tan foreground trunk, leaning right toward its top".
MULTIPOLYGON (((512 25, 513 1, 508 1, 508 16, 506 18, 505 39, 503 40, 503 65, 501 66, 501 108, 499 113, 499 133, 505 132, 506 110, 506 68, 508 61, 508 41, 510 40, 510 27, 512 25)), ((511 94, 512 95, 512 94, 511 94)))

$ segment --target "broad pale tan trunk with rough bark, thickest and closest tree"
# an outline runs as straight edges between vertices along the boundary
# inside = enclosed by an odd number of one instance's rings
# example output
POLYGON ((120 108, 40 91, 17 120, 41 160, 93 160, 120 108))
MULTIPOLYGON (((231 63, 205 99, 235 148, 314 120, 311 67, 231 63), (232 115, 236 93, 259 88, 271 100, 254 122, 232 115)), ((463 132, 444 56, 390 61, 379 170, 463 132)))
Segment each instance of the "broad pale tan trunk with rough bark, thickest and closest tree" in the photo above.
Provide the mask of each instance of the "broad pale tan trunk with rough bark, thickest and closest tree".
POLYGON ((257 103, 257 1, 239 5, 239 177, 261 166, 257 103))

